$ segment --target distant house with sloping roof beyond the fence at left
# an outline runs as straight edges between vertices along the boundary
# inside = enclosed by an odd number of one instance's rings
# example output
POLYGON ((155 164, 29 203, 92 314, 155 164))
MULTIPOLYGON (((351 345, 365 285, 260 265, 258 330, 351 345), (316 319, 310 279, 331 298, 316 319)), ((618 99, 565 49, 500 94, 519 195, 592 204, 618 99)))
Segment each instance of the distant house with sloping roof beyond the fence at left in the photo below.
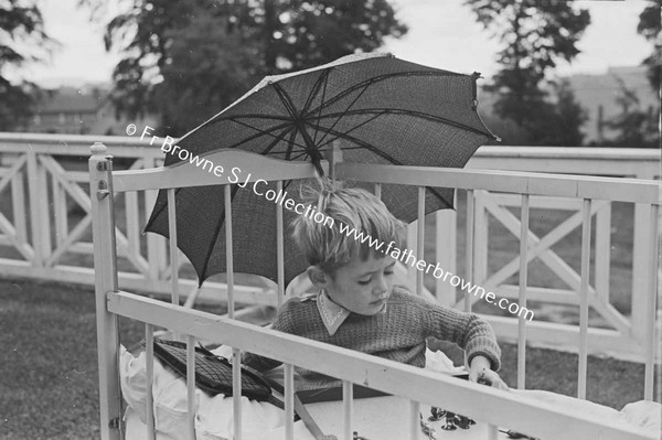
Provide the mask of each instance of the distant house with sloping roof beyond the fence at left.
POLYGON ((157 118, 116 117, 108 92, 99 88, 61 87, 46 93, 24 131, 70 135, 126 135, 128 124, 156 127, 157 118))

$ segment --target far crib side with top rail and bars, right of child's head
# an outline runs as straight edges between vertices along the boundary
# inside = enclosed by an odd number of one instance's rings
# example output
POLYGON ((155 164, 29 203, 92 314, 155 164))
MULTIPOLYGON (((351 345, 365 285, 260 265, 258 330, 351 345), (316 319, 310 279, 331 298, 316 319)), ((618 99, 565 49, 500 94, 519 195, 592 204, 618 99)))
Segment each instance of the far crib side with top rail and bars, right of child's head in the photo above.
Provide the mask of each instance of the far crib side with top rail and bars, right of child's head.
MULTIPOLYGON (((435 169, 426 167, 394 167, 394 165, 373 165, 356 163, 339 163, 335 165, 335 173, 340 180, 355 180, 361 182, 372 182, 378 185, 401 184, 425 186, 446 186, 465 189, 468 194, 468 215, 467 215, 467 278, 473 281, 473 250, 474 239, 473 228, 473 200, 474 191, 491 190, 504 193, 515 193, 522 195, 521 211, 521 243, 520 243, 520 291, 519 305, 526 307, 526 272, 528 264, 530 248, 527 245, 528 230, 528 197, 531 195, 570 197, 583 201, 583 222, 581 222, 581 273, 579 287, 579 334, 577 345, 579 351, 579 368, 577 396, 586 398, 586 376, 587 376, 587 354, 588 354, 588 305, 589 300, 595 304, 595 296, 589 297, 589 277, 590 277, 590 239, 591 239, 591 204, 594 201, 610 202, 630 202, 645 204, 650 206, 650 221, 648 224, 650 237, 659 236, 659 215, 662 186, 656 181, 645 181, 636 179, 610 179, 610 178, 589 178, 578 175, 563 174, 536 174, 523 172, 502 172, 485 170, 453 170, 435 169)), ((421 201, 419 200, 419 206, 421 201)), ((419 214, 419 224, 421 216, 419 214)), ((418 236, 424 232, 419 228, 418 236)), ((421 240, 419 239, 419 243, 421 240)), ((421 255, 421 253, 418 253, 421 255)), ((645 291, 647 313, 645 313, 645 339, 643 342, 645 372, 644 372, 644 398, 651 400, 653 397, 653 375, 654 359, 659 353, 658 344, 660 335, 656 335, 656 277, 658 267, 658 239, 651 239, 648 253, 648 273, 649 280, 645 291)), ((471 294, 466 292, 466 310, 471 311, 471 294)), ((526 326, 527 321, 520 316, 519 319, 519 339, 517 339, 517 386, 524 387, 525 359, 526 359, 526 326)), ((554 324, 547 330, 553 330, 554 324)), ((628 324, 623 323, 626 331, 629 331, 628 324)))

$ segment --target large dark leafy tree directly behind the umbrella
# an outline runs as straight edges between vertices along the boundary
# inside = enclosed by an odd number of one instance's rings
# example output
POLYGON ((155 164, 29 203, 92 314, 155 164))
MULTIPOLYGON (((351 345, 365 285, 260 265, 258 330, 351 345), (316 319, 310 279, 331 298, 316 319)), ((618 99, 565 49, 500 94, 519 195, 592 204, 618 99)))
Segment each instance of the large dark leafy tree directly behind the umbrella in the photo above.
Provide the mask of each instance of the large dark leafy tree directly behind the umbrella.
MULTIPOLYGON (((97 0, 84 0, 99 7, 97 0)), ((106 47, 125 57, 113 100, 129 117, 161 116, 180 136, 267 74, 378 47, 406 28, 386 0, 134 0, 107 26, 106 47)))

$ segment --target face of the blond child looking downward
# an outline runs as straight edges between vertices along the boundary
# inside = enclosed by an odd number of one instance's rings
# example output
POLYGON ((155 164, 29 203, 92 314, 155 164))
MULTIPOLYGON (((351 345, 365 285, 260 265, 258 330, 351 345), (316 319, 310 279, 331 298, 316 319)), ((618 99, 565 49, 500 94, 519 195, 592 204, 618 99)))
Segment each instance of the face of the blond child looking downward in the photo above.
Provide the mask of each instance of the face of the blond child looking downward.
POLYGON ((393 290, 395 259, 386 256, 367 260, 356 256, 327 276, 324 290, 333 302, 351 312, 372 315, 380 312, 393 290))

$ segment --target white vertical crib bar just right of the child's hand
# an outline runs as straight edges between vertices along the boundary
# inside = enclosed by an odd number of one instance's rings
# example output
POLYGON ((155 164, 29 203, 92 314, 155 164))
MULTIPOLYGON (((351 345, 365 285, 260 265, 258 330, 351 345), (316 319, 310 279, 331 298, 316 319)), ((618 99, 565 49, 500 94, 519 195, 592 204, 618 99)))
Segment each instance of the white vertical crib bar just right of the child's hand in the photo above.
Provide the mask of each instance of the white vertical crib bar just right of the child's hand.
MULTIPOLYGON (((522 194, 522 215, 520 229, 520 310, 526 307, 526 286, 528 283, 528 194, 522 194)), ((517 321, 517 388, 524 389, 526 377, 526 319, 517 321)))

